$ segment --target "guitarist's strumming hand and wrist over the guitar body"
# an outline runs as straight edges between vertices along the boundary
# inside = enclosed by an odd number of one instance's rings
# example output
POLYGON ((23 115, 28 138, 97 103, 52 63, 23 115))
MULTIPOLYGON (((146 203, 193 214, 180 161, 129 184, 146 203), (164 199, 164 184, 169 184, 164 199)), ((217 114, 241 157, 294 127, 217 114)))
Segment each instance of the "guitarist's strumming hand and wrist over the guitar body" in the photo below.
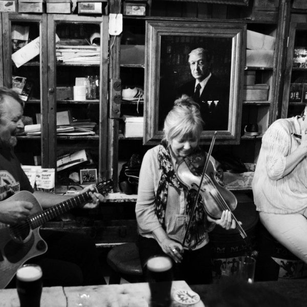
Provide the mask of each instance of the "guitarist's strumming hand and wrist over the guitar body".
POLYGON ((1 201, 0 222, 4 224, 18 224, 26 220, 30 215, 33 205, 25 201, 1 201))

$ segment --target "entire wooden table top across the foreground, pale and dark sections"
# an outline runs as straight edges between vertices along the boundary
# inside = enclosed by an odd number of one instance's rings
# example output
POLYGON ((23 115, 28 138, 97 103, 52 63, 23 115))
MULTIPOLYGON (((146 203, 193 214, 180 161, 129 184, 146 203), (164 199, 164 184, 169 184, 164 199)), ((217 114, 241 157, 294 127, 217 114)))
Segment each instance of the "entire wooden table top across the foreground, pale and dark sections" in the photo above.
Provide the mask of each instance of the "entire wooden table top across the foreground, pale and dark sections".
MULTIPOLYGON (((279 281, 255 282, 255 286, 264 287, 272 295, 278 293, 291 302, 289 307, 307 306, 307 279, 285 279, 279 281)), ((259 289, 259 288, 257 288, 259 289)), ((193 305, 184 305, 176 301, 171 307, 211 307, 209 297, 221 295, 218 284, 197 284, 188 286, 185 281, 173 281, 172 292, 192 290, 199 294, 201 301, 193 305)), ((258 293, 256 293, 258 295, 258 293)), ((109 284, 87 287, 43 288, 41 307, 148 307, 150 292, 148 283, 109 284)), ((16 289, 0 290, 0 307, 18 307, 16 289)), ((223 305, 224 306, 224 305, 223 305)), ((232 306, 232 305, 231 305, 232 306)), ((251 305, 248 305, 251 306, 251 305)), ((241 307, 241 306, 238 306, 241 307)), ((244 307, 244 306, 242 306, 244 307)), ((259 306, 260 307, 260 306, 259 306)), ((288 307, 288 305, 287 305, 288 307)))

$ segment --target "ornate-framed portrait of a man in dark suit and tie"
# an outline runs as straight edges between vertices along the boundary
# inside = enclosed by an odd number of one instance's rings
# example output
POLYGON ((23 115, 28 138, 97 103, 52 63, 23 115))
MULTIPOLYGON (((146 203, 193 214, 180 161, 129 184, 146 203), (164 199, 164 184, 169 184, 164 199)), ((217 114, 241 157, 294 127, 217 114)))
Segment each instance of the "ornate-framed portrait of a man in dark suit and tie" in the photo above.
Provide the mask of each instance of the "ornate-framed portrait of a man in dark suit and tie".
POLYGON ((246 25, 146 21, 144 143, 163 137, 163 124, 182 95, 200 106, 202 143, 238 143, 246 25))

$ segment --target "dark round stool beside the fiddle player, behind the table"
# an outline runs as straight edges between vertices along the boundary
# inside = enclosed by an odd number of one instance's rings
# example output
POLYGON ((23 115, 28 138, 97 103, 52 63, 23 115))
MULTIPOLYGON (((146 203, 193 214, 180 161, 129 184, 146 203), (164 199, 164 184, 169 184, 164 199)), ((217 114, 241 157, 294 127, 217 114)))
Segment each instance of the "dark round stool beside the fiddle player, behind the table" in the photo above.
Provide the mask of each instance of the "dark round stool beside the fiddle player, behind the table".
POLYGON ((124 243, 114 247, 106 256, 111 267, 109 284, 120 283, 121 277, 129 282, 143 282, 143 271, 139 249, 135 243, 124 243))

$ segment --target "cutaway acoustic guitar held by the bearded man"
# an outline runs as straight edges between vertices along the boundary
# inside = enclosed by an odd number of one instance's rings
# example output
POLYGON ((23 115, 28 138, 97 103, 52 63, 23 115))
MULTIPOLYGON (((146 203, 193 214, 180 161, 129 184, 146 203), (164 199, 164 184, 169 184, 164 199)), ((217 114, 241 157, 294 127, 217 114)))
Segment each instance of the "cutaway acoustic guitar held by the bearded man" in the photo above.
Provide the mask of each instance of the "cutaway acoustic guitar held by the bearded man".
MULTIPOLYGON (((112 189, 112 180, 96 185, 101 194, 112 189)), ((32 257, 47 251, 47 244, 39 235, 39 227, 53 218, 77 208, 91 200, 90 190, 78 194, 46 210, 42 210, 35 196, 29 191, 20 191, 7 200, 27 201, 33 204, 26 222, 17 225, 0 223, 0 289, 4 289, 17 269, 32 257)))

